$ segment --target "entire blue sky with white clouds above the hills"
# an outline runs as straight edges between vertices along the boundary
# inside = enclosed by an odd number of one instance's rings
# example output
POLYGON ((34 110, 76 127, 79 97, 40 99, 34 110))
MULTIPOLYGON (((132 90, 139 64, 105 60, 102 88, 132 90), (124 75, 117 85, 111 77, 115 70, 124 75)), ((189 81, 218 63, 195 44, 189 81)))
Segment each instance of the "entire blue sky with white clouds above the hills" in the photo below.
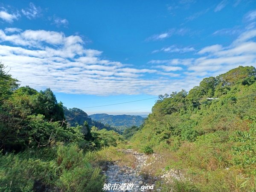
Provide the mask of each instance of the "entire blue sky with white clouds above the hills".
POLYGON ((148 114, 160 94, 256 67, 256 1, 2 0, 0 59, 67 108, 148 114))

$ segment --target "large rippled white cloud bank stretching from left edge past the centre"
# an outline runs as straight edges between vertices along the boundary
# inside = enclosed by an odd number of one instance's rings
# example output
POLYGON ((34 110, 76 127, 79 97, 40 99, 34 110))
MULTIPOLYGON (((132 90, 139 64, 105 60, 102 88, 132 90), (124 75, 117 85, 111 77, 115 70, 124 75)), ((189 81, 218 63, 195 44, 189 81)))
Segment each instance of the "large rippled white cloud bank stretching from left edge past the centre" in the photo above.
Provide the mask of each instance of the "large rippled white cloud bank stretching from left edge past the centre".
POLYGON ((170 71, 167 68, 137 69, 103 59, 101 51, 85 49, 77 35, 45 30, 13 31, 16 33, 8 35, 0 30, 0 58, 11 67, 9 73, 21 85, 36 89, 50 87, 63 93, 158 95, 169 89, 169 78, 180 76, 167 73, 170 71))

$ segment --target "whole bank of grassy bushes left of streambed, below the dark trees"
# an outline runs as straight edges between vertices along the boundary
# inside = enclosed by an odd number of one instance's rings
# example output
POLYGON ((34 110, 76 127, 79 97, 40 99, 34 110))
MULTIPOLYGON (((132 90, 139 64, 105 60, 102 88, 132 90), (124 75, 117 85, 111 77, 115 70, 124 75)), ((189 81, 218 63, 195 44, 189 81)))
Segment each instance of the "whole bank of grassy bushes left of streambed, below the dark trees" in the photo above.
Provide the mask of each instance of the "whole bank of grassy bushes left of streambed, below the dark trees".
POLYGON ((102 190, 105 176, 90 165, 88 156, 76 144, 58 143, 49 149, 0 153, 0 191, 102 190))

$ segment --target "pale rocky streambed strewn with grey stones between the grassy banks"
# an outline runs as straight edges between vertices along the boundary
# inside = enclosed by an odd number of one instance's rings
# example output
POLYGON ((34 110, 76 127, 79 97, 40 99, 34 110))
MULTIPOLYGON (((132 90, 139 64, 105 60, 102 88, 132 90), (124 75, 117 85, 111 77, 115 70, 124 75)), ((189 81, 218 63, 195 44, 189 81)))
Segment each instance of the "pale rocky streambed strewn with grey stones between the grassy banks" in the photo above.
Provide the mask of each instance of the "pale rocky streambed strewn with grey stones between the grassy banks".
MULTIPOLYGON (((173 178, 180 179, 180 172, 175 170, 164 170, 163 175, 159 177, 151 176, 150 174, 143 173, 143 168, 154 163, 160 156, 153 154, 151 160, 148 161, 148 155, 138 153, 131 149, 123 150, 125 153, 131 153, 136 158, 135 167, 119 166, 117 162, 108 162, 104 174, 107 176, 106 184, 103 191, 123 191, 123 192, 160 192, 161 187, 156 187, 156 182, 171 183, 173 178)), ((182 176, 183 177, 183 176, 182 176)))

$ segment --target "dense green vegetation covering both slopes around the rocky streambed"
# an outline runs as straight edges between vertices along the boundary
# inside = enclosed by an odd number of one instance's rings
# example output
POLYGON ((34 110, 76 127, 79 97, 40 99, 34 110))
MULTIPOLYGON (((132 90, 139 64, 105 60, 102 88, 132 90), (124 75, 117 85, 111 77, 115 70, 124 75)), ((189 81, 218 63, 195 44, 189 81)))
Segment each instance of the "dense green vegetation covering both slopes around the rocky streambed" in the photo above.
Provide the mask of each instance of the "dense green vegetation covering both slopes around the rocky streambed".
POLYGON ((160 153, 151 166, 187 178, 163 191, 253 192, 255 114, 256 69, 240 66, 189 93, 160 95, 143 125, 123 132, 127 145, 84 111, 65 108, 50 89, 19 87, 0 64, 0 191, 99 192, 102 161, 125 159, 117 146, 160 153))

